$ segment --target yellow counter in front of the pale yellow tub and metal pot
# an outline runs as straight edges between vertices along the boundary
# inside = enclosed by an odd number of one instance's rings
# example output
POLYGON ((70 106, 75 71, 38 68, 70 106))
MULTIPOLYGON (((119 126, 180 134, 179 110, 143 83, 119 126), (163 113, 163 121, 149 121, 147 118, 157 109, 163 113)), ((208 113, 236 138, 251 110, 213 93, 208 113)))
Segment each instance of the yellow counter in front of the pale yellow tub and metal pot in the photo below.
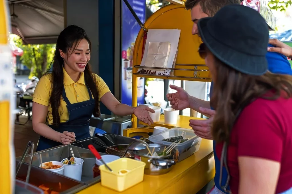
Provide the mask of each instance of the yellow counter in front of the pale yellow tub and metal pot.
POLYGON ((79 194, 100 193, 197 193, 215 176, 215 161, 212 140, 202 139, 198 152, 175 164, 174 168, 165 175, 144 175, 144 181, 127 189, 116 192, 97 183, 79 194))

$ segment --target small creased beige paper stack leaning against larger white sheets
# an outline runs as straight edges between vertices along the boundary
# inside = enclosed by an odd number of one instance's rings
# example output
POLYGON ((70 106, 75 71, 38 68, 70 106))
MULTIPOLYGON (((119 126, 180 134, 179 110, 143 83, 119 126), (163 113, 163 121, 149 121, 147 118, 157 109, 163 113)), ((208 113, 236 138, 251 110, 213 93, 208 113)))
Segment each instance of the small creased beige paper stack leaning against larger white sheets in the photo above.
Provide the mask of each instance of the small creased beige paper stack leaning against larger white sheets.
POLYGON ((170 52, 170 42, 149 42, 144 65, 146 67, 166 67, 170 52))

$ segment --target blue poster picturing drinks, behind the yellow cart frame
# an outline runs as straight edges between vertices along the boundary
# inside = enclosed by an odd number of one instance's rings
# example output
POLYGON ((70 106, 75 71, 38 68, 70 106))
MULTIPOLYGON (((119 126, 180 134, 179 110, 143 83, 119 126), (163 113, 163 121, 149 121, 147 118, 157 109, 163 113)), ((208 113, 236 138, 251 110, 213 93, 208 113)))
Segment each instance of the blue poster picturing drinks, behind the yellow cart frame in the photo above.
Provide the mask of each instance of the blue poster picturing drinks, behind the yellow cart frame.
MULTIPOLYGON (((131 11, 122 0, 122 18, 121 18, 121 103, 132 105, 132 73, 133 73, 133 50, 137 35, 141 29, 135 20, 131 11)), ((146 1, 145 0, 128 0, 131 7, 135 11, 142 23, 146 17, 146 1)), ((137 102, 144 104, 144 86, 145 79, 138 78, 137 83, 137 102)))

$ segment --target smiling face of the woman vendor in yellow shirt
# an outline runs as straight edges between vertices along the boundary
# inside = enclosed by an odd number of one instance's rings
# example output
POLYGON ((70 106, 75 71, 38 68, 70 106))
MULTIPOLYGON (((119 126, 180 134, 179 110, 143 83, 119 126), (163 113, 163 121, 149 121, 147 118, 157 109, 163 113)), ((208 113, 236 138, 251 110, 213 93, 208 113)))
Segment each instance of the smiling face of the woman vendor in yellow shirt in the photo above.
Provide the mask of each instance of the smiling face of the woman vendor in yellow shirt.
POLYGON ((67 53, 60 50, 60 55, 64 59, 64 68, 67 73, 84 72, 90 60, 89 51, 89 44, 86 39, 82 39, 74 50, 69 49, 67 53))

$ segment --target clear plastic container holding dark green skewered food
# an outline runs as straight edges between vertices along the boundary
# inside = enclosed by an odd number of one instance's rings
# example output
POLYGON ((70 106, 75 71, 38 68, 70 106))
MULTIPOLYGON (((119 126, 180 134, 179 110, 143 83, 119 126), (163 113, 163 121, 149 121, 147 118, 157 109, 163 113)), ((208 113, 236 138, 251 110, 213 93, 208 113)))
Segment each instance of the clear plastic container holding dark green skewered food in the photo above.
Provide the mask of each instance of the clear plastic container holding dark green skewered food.
POLYGON ((194 131, 191 129, 184 129, 175 127, 163 132, 160 132, 156 135, 149 136, 149 141, 153 143, 158 143, 161 145, 165 145, 166 147, 171 145, 171 142, 162 141, 163 139, 175 137, 175 136, 183 136, 183 138, 187 138, 189 140, 178 144, 175 147, 175 156, 173 158, 176 162, 180 162, 187 157, 191 156, 195 152, 197 152, 200 148, 202 138, 194 134, 194 131))

